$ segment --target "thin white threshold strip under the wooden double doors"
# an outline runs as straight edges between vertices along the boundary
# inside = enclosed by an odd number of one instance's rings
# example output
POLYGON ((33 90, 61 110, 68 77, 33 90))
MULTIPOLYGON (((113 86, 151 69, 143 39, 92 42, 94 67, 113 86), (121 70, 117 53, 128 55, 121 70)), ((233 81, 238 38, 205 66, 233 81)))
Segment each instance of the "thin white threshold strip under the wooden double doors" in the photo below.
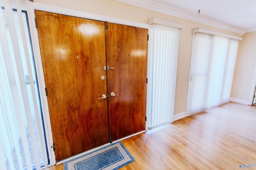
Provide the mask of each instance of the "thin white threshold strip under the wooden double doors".
MULTIPOLYGON (((143 132, 146 132, 146 130, 140 131, 140 132, 138 132, 138 133, 134 133, 134 134, 129 135, 129 136, 127 136, 127 137, 123 137, 123 138, 121 138, 121 139, 118 139, 118 140, 116 140, 116 141, 113 141, 112 143, 116 143, 116 142, 118 142, 118 141, 122 141, 122 140, 124 140, 124 139, 127 139, 127 138, 129 138, 129 137, 133 137, 133 136, 138 135, 138 134, 143 133, 143 132)), ((75 156, 71 156, 70 158, 66 158, 66 159, 64 159, 64 160, 60 160, 60 161, 56 162, 56 165, 62 164, 62 163, 64 163, 64 162, 66 162, 66 161, 72 160, 72 159, 74 159, 74 158, 77 158, 77 157, 79 157, 79 156, 82 156, 82 155, 84 155, 84 154, 87 154, 87 153, 89 153, 89 152, 92 152, 92 151, 94 151, 94 150, 97 150, 97 149, 106 147, 106 146, 108 146, 108 145, 110 145, 110 144, 111 144, 111 143, 106 143, 106 144, 104 144, 104 145, 102 145, 102 146, 100 146, 100 147, 96 147, 96 148, 94 148, 94 149, 87 150, 87 151, 82 152, 82 153, 80 153, 80 154, 77 154, 77 155, 75 155, 75 156)))

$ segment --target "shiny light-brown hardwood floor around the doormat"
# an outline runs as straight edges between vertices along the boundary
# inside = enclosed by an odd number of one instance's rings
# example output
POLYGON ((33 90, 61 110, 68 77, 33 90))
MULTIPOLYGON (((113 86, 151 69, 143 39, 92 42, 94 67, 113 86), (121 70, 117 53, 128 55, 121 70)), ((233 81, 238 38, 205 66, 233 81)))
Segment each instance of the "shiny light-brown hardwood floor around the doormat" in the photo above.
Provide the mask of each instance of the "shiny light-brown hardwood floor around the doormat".
POLYGON ((122 143, 136 161, 121 170, 256 169, 256 106, 229 102, 122 143))

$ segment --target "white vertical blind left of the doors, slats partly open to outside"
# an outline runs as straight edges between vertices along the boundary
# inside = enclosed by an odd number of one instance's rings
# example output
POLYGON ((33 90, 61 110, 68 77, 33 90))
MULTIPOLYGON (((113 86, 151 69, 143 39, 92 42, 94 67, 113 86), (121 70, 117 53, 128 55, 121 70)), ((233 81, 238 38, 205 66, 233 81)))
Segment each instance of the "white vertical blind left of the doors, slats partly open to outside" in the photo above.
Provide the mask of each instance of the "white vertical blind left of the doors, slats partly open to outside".
POLYGON ((2 170, 48 165, 26 13, 0 0, 0 164, 2 170))

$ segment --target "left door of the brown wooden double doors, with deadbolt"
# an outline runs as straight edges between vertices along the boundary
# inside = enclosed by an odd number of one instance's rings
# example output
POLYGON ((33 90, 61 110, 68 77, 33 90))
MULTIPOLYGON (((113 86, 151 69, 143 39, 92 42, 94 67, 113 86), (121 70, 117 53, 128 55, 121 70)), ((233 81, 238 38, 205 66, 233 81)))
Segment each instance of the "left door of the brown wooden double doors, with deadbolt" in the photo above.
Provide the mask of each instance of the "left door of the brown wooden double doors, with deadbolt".
POLYGON ((56 161, 109 142, 104 22, 35 11, 56 161), (107 95, 107 94, 106 94, 107 95))

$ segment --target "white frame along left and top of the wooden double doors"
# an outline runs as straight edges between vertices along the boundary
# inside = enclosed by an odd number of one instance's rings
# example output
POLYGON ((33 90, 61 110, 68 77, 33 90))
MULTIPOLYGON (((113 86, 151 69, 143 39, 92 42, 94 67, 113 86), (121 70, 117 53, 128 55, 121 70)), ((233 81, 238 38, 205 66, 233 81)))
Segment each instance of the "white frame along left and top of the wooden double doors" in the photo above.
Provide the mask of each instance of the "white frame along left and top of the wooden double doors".
MULTIPOLYGON (((50 115, 49 115, 47 97, 45 95, 44 72, 43 72, 43 68, 42 68, 42 60, 41 60, 38 33, 37 33, 35 19, 34 19, 35 18, 34 10, 42 10, 42 11, 46 11, 46 12, 64 14, 64 15, 98 20, 98 21, 108 21, 108 22, 112 22, 112 23, 118 23, 118 24, 123 24, 123 25, 134 26, 134 27, 141 27, 141 28, 146 28, 146 29, 149 29, 150 26, 146 23, 139 23, 139 22, 135 22, 135 21, 128 21, 128 20, 123 20, 123 19, 118 19, 118 18, 113 18, 113 17, 108 17, 108 16, 102 16, 102 15, 98 15, 98 14, 91 14, 88 12, 71 10, 68 8, 62 8, 62 7, 52 6, 52 5, 47 5, 47 4, 41 4, 38 2, 26 1, 26 6, 27 6, 27 12, 28 12, 28 21, 30 23, 30 33, 31 33, 31 38, 32 38, 32 45, 33 45, 33 49, 34 49, 36 72, 38 75, 38 86, 39 86, 39 92, 40 92, 40 98, 41 98, 41 104, 42 104, 42 111, 43 111, 44 120, 45 120, 45 124, 46 124, 47 141, 49 143, 47 147, 48 147, 49 154, 50 154, 50 160, 51 160, 50 162, 52 165, 55 165, 56 164, 55 154, 54 154, 53 149, 50 148, 50 145, 53 143, 52 128, 51 128, 51 124, 50 124, 50 115)), ((149 53, 148 53, 148 56, 150 56, 149 53)), ((147 115, 147 112, 146 112, 146 115, 147 115)), ((146 123, 146 129, 147 129, 147 123, 146 123)), ((58 162, 58 164, 62 163, 62 162, 63 161, 60 161, 60 162, 58 162)))

